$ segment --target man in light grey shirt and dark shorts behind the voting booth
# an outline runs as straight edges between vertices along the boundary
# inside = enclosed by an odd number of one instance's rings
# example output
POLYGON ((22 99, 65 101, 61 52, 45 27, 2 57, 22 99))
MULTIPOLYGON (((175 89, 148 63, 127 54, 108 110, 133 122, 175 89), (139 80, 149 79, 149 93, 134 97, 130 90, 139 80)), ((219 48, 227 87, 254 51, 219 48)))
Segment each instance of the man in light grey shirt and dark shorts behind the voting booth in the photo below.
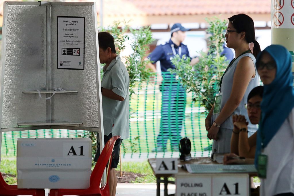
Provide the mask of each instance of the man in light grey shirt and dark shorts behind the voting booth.
POLYGON ((119 148, 122 139, 129 137, 130 78, 126 66, 116 54, 113 36, 107 32, 99 32, 98 41, 100 63, 105 63, 101 81, 104 143, 114 135, 121 136, 116 140, 113 148, 109 175, 110 195, 115 196, 117 185, 115 168, 118 165, 119 148))

